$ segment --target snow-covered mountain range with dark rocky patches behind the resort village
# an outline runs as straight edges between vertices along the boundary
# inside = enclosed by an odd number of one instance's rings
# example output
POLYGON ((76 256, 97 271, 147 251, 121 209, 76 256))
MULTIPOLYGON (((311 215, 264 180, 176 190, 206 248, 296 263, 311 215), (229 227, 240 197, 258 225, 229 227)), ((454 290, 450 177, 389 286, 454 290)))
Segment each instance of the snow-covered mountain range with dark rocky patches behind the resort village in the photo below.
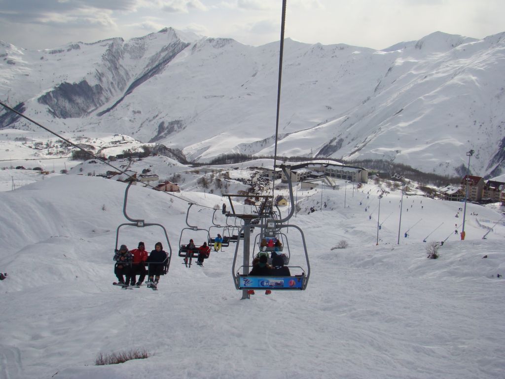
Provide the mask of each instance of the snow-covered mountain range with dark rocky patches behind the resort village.
MULTIPOLYGON (((383 159, 426 172, 499 175, 505 33, 432 33, 377 51, 284 44, 280 155, 383 159)), ((279 43, 166 28, 30 51, 0 42, 0 99, 66 132, 118 132, 188 160, 274 151, 279 43)), ((0 113, 0 128, 37 127, 0 113)))

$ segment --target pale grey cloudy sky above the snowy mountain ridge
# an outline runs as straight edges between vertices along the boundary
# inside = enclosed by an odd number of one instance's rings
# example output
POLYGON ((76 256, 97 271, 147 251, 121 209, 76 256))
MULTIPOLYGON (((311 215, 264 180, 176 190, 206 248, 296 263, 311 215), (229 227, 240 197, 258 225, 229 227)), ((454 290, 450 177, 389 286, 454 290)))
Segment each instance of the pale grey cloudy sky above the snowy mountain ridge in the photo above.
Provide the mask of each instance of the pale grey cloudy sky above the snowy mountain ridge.
MULTIPOLYGON (((164 27, 261 45, 280 38, 281 0, 0 0, 0 39, 27 49, 129 39, 164 27)), ((285 36, 383 49, 434 31, 505 31, 504 0, 288 0, 285 36)))

